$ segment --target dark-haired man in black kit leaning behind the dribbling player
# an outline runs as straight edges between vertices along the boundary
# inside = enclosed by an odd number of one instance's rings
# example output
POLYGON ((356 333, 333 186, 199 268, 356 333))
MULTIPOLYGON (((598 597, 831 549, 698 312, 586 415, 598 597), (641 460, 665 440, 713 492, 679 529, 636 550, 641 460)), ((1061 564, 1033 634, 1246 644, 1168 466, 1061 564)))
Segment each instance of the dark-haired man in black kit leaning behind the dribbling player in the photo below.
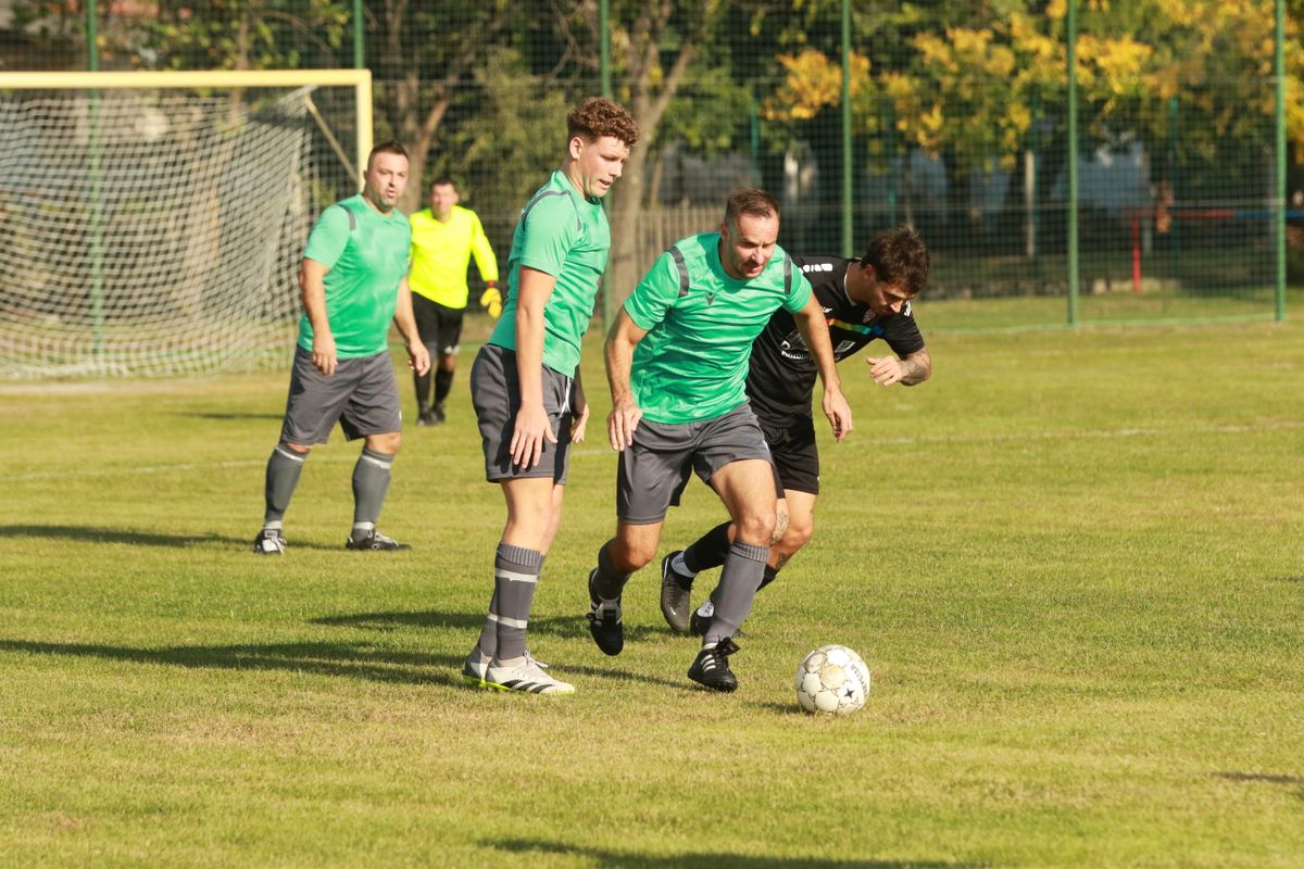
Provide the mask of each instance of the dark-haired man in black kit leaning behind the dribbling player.
MULTIPOLYGON (((880 386, 923 383, 932 374, 932 357, 914 322, 910 301, 928 283, 930 255, 909 227, 882 232, 870 241, 863 259, 793 257, 810 280, 828 321, 833 356, 841 362, 882 337, 895 356, 868 357, 870 377, 880 386)), ((747 373, 747 397, 765 433, 777 474, 778 522, 760 588, 805 546, 815 530, 819 495, 819 451, 811 397, 816 366, 793 322, 780 307, 756 337, 747 373)), ((711 625, 715 595, 694 611, 692 581, 698 572, 724 564, 734 537, 722 522, 686 550, 661 562, 661 614, 677 633, 702 636, 711 625)))

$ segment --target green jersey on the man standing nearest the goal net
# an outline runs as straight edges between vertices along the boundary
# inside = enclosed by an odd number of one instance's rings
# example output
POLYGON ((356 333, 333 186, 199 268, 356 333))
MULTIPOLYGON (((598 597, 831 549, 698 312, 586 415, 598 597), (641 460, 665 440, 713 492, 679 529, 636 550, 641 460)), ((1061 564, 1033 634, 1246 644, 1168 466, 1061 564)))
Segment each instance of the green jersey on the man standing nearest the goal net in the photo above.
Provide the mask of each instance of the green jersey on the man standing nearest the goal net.
MULTIPOLYGON (((387 349, 399 281, 407 274, 412 225, 398 208, 389 216, 366 205, 363 194, 322 211, 304 259, 326 266, 326 319, 335 356, 352 360, 387 349)), ((299 347, 313 349, 308 314, 299 321, 299 347)))

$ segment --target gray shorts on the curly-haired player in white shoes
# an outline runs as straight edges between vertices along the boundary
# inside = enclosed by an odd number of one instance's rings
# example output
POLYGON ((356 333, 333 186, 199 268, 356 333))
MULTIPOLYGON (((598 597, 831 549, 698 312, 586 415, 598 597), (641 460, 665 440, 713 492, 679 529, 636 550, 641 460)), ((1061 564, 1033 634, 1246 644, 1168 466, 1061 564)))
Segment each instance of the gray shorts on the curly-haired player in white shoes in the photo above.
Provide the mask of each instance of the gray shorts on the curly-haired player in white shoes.
POLYGON ((494 483, 519 477, 550 477, 566 483, 570 468, 572 380, 544 366, 544 410, 557 443, 544 440, 544 453, 533 468, 511 463, 511 433, 520 409, 520 378, 516 353, 497 344, 485 344, 471 366, 471 404, 480 422, 480 440, 485 453, 485 479, 494 483))

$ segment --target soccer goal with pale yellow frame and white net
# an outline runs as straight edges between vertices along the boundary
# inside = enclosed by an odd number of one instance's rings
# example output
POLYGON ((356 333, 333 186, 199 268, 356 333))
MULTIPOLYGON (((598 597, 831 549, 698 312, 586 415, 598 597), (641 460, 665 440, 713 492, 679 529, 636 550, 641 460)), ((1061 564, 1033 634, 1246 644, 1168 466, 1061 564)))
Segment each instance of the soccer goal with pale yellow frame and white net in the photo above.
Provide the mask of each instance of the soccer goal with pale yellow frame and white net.
POLYGON ((0 73, 0 379, 283 362, 370 147, 368 70, 0 73))

